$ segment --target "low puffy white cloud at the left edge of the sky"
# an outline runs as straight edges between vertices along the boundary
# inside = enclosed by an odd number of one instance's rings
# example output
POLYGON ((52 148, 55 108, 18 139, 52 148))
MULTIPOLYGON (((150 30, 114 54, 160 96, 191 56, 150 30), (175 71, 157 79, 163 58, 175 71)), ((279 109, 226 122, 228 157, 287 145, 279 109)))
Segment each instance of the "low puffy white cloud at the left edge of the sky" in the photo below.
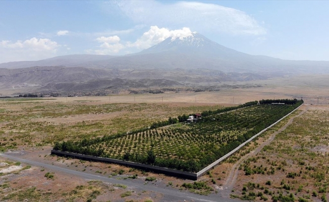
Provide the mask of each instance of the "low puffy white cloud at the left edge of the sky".
POLYGON ((11 61, 41 60, 56 56, 61 47, 56 41, 48 38, 31 38, 25 41, 0 41, 0 63, 11 61))

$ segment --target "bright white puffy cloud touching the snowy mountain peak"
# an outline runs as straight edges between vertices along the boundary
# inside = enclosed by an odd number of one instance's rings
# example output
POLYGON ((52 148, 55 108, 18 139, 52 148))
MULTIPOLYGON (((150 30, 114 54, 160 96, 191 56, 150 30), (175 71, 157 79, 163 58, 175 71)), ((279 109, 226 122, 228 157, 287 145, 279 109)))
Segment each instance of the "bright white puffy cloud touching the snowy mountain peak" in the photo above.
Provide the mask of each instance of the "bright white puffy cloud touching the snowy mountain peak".
POLYGON ((189 28, 184 27, 182 29, 169 30, 167 28, 158 28, 157 26, 151 26, 147 32, 138 38, 134 43, 128 43, 129 47, 137 47, 139 49, 149 48, 168 37, 181 38, 191 35, 192 32, 189 28))

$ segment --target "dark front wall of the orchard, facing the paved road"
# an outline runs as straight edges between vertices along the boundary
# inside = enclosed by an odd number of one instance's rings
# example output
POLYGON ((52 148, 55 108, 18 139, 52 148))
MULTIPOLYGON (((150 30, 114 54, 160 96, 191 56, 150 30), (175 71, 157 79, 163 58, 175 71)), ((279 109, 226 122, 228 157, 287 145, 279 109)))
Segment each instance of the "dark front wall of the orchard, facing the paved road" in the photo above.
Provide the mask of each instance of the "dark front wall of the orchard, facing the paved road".
POLYGON ((196 173, 190 173, 190 172, 186 172, 186 171, 179 171, 179 170, 174 170, 174 169, 171 169, 171 168, 151 166, 151 165, 147 165, 147 164, 140 164, 140 163, 135 163, 135 162, 122 161, 122 160, 118 160, 118 159, 92 157, 92 156, 75 154, 75 153, 70 153, 70 152, 66 152, 66 151, 59 151, 59 150, 53 150, 53 149, 51 150, 51 154, 52 155, 58 155, 58 156, 74 157, 74 158, 77 158, 77 159, 82 159, 82 160, 87 160, 87 161, 98 161, 98 162, 105 162, 105 163, 114 163, 114 164, 119 164, 119 165, 123 165, 123 166, 139 168, 139 169, 143 169, 143 170, 150 170, 150 171, 154 171, 156 173, 167 174, 167 175, 180 177, 180 178, 184 178, 184 179, 197 180, 197 174, 196 173))

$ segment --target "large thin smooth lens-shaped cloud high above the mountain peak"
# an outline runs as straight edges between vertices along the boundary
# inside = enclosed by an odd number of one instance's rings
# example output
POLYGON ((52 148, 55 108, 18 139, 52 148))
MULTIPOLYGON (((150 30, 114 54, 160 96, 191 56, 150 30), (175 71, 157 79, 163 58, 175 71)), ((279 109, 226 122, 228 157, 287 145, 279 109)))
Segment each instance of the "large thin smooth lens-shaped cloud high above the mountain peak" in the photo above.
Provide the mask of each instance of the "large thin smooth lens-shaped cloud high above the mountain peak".
MULTIPOLYGON (((200 33, 261 35, 266 33, 252 16, 237 9, 198 2, 162 4, 155 1, 116 1, 111 5, 137 23, 161 27, 187 26, 200 33)), ((106 5, 105 5, 106 6, 106 5)))

